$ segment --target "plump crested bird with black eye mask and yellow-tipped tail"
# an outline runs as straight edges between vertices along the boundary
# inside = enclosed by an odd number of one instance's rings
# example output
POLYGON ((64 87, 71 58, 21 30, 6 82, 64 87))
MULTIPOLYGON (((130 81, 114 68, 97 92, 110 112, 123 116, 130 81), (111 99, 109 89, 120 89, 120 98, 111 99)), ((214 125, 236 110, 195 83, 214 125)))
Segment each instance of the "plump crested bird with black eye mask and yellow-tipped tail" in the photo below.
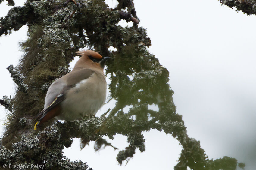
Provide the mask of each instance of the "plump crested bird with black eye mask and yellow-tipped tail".
POLYGON ((83 115, 93 114, 101 108, 106 99, 105 62, 95 51, 77 51, 81 55, 70 73, 55 80, 49 87, 44 109, 38 113, 34 129, 51 118, 73 121, 83 115))

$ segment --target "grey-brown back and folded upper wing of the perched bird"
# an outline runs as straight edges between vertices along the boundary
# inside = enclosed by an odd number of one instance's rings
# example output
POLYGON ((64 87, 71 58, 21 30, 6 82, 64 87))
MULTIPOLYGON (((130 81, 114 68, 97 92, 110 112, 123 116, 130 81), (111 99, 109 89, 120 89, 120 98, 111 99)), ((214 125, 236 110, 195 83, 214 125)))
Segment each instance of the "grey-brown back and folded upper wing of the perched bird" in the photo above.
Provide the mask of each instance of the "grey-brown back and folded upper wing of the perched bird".
POLYGON ((71 71, 65 76, 55 80, 46 93, 44 109, 50 106, 58 95, 64 94, 67 89, 73 87, 76 83, 89 78, 94 72, 95 71, 92 69, 83 68, 71 71))

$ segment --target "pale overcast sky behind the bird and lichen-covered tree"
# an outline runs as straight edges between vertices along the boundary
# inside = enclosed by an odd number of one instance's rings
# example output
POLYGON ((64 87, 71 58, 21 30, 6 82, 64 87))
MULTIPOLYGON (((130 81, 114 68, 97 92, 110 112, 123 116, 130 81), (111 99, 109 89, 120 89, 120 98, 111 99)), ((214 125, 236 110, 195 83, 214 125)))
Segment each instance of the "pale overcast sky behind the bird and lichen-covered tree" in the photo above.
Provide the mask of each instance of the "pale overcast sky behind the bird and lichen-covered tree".
MULTIPOLYGON (((16 5, 23 2, 15 1, 16 5)), ((108 0, 111 7, 115 2, 108 0)), ((0 17, 10 9, 5 4, 0 4, 0 17)), ((170 72, 174 103, 189 136, 200 140, 210 159, 226 155, 246 163, 246 170, 255 169, 256 16, 237 13, 218 0, 134 0, 134 4, 139 26, 147 28, 151 38, 149 51, 170 72)), ((18 64, 22 55, 18 42, 26 39, 26 31, 22 27, 0 37, 0 98, 14 96, 14 83, 6 67, 18 64)), ((2 106, 0 109, 4 120, 6 111, 2 106)), ((87 162, 94 170, 173 169, 181 152, 179 142, 156 130, 144 135, 146 151, 137 150, 126 166, 117 164, 118 151, 110 147, 95 153, 90 142, 80 151, 78 139, 64 149, 64 155, 87 162)), ((120 135, 109 141, 120 150, 128 145, 120 135)))

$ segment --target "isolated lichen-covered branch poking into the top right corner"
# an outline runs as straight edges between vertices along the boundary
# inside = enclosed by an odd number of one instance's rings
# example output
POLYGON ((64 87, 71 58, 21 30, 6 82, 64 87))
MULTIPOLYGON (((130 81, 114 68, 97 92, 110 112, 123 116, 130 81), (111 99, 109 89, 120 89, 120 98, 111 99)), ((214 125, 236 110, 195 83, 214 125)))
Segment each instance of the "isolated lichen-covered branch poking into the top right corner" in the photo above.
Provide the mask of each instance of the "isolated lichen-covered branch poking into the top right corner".
POLYGON ((233 9, 242 11, 247 15, 256 14, 256 1, 255 0, 219 0, 221 4, 226 5, 233 9))

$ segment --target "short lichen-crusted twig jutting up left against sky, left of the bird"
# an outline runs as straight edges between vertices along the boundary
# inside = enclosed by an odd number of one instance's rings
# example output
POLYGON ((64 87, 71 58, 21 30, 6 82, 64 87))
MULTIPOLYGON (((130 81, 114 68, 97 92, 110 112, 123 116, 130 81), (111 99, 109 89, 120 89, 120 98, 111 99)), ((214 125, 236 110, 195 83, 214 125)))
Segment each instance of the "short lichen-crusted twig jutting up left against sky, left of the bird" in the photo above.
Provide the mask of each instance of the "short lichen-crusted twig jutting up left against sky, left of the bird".
POLYGON ((23 82, 19 73, 14 70, 13 65, 8 66, 7 70, 9 70, 13 81, 17 84, 18 90, 27 93, 28 85, 23 82))

